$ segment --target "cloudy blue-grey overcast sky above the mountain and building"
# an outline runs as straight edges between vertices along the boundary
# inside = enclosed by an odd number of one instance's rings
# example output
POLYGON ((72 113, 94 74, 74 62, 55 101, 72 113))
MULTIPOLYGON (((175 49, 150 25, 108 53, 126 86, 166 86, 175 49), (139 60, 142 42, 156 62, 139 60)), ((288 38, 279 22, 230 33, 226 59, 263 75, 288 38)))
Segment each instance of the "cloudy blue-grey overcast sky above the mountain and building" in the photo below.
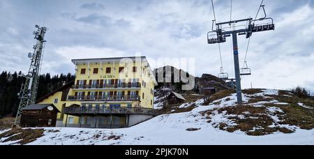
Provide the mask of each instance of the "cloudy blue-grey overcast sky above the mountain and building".
MULTIPOLYGON (((230 19, 230 0, 216 0, 218 22, 230 19)), ((314 92, 314 1, 264 0, 275 31, 254 33, 248 52, 253 75, 244 88, 314 92)), ((232 20, 255 17, 260 0, 233 0, 232 20)), ((262 17, 262 14, 260 15, 262 17)), ((49 28, 42 73, 74 73, 70 59, 134 56, 195 58, 195 74, 220 72, 218 45, 207 44, 214 15, 209 0, 1 0, 0 69, 27 72, 34 25, 49 28)), ((221 44, 225 72, 234 77, 230 38, 221 44)), ((239 37, 240 63, 247 39, 239 37)))

